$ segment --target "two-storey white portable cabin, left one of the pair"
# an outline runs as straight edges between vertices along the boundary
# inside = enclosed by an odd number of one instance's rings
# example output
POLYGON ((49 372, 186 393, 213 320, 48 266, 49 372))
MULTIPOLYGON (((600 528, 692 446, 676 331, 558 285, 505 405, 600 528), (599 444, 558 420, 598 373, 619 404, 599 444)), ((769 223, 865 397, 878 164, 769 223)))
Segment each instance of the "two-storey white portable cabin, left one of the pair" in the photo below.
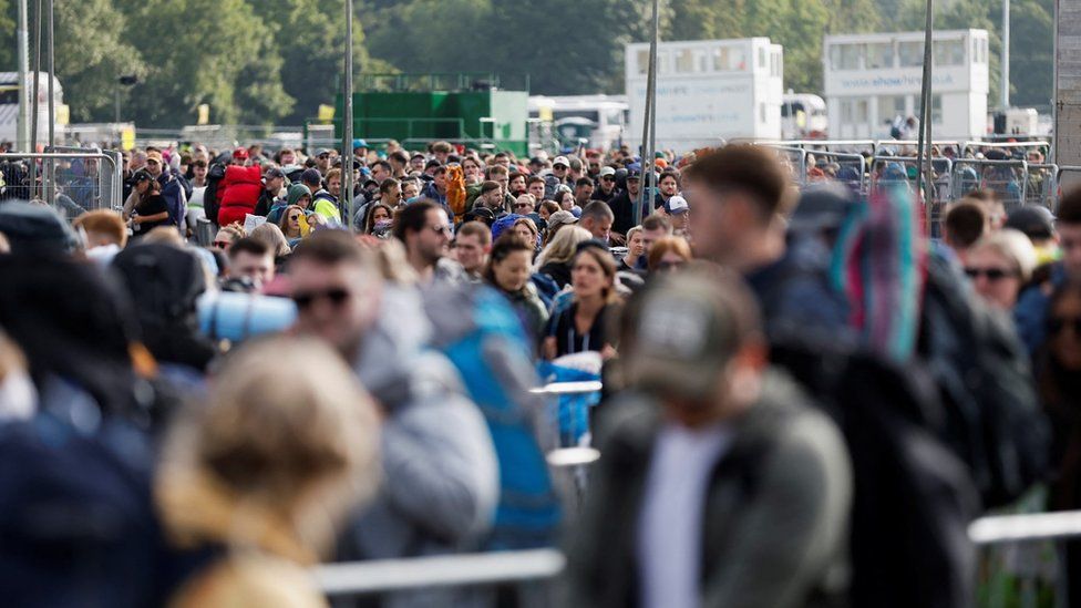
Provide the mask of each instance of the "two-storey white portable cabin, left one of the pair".
MULTIPOLYGON (((641 144, 649 44, 627 45, 631 148, 641 144)), ((678 152, 721 140, 781 137, 784 58, 769 38, 661 42, 657 47, 657 147, 678 152)))

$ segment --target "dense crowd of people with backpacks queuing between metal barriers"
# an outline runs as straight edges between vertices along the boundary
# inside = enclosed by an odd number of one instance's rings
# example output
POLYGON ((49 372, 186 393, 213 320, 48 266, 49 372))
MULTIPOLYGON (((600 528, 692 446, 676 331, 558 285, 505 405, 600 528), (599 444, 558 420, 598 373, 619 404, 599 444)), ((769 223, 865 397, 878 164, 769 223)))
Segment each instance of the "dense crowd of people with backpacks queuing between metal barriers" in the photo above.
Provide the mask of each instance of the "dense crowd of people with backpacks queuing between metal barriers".
POLYGON ((1081 190, 933 230, 790 169, 196 144, 125 152, 119 210, 0 202, 0 589, 318 606, 320 560, 560 547, 560 606, 971 606, 969 522, 1081 508, 1081 190), (570 483, 560 370, 604 387, 570 483))

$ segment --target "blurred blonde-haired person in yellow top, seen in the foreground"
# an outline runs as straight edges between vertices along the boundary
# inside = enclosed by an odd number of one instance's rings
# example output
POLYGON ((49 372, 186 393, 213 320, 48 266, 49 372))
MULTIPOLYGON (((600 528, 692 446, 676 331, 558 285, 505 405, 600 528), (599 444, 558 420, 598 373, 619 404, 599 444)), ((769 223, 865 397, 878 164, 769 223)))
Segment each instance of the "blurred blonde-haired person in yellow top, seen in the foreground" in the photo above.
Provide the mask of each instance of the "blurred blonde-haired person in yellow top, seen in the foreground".
POLYGON ((166 437, 158 511, 174 543, 224 555, 169 605, 326 606, 307 568, 377 476, 375 409, 349 368, 316 340, 255 342, 185 414, 166 437))

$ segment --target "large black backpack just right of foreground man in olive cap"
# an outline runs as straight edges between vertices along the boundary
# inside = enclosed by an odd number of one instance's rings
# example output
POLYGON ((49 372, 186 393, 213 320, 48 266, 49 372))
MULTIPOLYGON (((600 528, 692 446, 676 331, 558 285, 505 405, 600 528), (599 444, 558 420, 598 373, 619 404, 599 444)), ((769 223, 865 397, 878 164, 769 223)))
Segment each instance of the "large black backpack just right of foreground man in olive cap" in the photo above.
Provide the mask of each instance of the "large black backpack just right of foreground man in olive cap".
POLYGON ((979 498, 938 439, 944 413, 919 369, 827 344, 775 340, 771 360, 828 412, 853 464, 853 608, 965 608, 975 601, 968 524, 979 498))

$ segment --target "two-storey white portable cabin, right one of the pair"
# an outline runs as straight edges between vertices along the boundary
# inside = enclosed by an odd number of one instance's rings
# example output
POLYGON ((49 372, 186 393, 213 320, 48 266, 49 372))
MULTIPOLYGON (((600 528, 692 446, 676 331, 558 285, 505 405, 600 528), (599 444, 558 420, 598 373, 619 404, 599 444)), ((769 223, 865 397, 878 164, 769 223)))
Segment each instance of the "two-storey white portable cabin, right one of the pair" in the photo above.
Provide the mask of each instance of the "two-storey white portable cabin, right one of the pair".
MULTIPOLYGON (((987 132, 987 30, 933 35, 931 130, 935 138, 987 132)), ((924 32, 827 35, 823 44, 830 136, 888 137, 898 118, 918 116, 924 32)))

